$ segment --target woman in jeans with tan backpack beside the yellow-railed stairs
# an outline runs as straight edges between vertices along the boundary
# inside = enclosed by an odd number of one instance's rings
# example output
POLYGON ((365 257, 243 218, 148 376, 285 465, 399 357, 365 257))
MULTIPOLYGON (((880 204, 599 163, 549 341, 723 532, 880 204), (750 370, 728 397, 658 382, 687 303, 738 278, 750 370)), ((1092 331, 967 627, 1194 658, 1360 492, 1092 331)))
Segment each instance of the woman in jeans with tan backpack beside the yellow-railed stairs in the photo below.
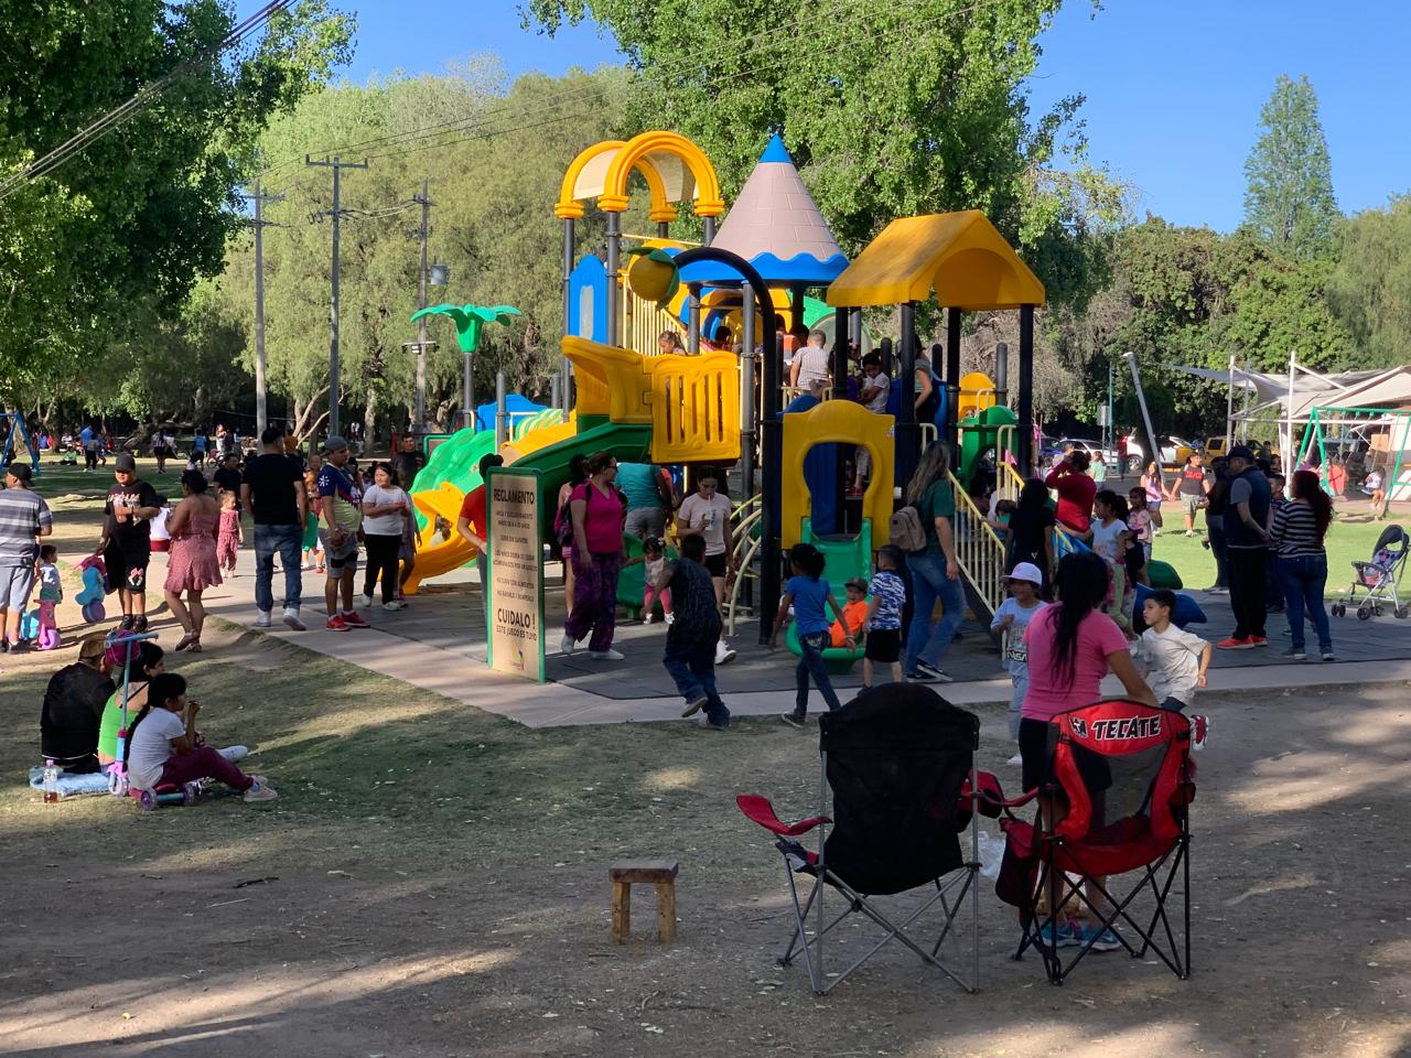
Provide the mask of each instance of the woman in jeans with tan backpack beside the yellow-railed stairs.
POLYGON ((909 542, 907 564, 916 612, 906 636, 904 669, 907 680, 924 683, 951 681, 941 670, 941 660, 965 615, 965 590, 955 560, 955 492, 948 478, 950 468, 950 447, 944 442, 933 442, 906 487, 906 502, 920 521, 920 539, 909 542), (937 600, 945 608, 940 621, 934 619, 937 600))

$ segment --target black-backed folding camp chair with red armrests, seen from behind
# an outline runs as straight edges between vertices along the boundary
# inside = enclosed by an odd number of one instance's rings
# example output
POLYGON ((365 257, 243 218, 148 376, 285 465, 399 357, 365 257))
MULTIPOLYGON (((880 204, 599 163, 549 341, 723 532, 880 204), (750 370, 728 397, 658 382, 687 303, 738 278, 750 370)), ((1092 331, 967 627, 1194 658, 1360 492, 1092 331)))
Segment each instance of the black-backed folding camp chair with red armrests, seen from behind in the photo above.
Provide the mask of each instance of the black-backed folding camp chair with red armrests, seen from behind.
MULTIPOLYGON (((801 952, 809 980, 817 995, 827 995, 888 941, 910 948, 926 965, 941 971, 967 992, 979 982, 979 831, 971 828, 971 853, 961 855, 959 835, 971 825, 971 794, 976 782, 992 790, 981 805, 989 810, 999 798, 993 776, 974 773, 979 719, 955 708, 930 687, 885 684, 858 694, 837 712, 818 719, 823 760, 823 807, 811 818, 786 824, 773 805, 755 794, 737 797, 739 810, 775 837, 783 856, 794 930, 779 956, 790 965, 801 952), (832 791, 832 817, 828 790, 832 791), (830 829, 831 827, 831 829, 830 829), (817 851, 797 838, 817 831, 817 851), (813 879, 800 900, 797 877, 813 879), (824 890, 842 896, 844 908, 824 921, 824 890), (900 923, 883 914, 875 897, 914 889, 933 889, 920 907, 900 923), (971 959, 965 979, 940 959, 941 945, 952 935, 965 896, 971 897, 971 959), (923 947, 906 930, 937 903, 943 921, 934 944, 923 947), (816 916, 809 935, 810 911, 816 916), (824 938, 848 916, 862 914, 882 927, 883 937, 828 979, 824 938)), ((992 810, 999 814, 998 807, 992 810)), ((954 931, 957 935, 959 930, 954 931)))

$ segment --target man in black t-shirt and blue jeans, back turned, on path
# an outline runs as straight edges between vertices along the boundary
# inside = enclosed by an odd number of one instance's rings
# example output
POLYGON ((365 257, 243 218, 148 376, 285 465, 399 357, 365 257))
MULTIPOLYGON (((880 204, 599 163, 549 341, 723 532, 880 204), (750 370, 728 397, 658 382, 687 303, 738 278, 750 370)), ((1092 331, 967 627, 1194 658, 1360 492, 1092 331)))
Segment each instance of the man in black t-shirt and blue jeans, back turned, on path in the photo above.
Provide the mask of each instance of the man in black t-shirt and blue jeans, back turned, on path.
POLYGON ((270 628, 271 624, 274 556, 278 552, 284 567, 284 624, 302 632, 305 625, 299 621, 299 601, 303 594, 303 571, 299 563, 303 522, 309 513, 303 471, 296 458, 285 454, 281 427, 267 427, 260 434, 260 442, 264 444, 264 454, 246 464, 240 484, 241 504, 255 523, 255 628, 270 628))

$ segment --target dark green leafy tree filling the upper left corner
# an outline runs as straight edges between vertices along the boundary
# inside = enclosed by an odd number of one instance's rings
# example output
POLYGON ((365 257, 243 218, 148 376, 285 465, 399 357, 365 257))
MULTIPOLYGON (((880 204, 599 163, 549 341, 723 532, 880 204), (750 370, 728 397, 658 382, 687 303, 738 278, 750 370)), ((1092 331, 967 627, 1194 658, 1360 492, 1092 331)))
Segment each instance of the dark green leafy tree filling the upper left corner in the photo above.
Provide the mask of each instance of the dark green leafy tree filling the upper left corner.
MULTIPOLYGON (((54 0, 0 18, 0 174, 20 171, 224 39, 230 0, 54 0)), ((0 378, 63 385, 152 322, 176 323, 241 223, 268 118, 349 58, 350 17, 279 11, 133 118, 0 202, 0 378)))

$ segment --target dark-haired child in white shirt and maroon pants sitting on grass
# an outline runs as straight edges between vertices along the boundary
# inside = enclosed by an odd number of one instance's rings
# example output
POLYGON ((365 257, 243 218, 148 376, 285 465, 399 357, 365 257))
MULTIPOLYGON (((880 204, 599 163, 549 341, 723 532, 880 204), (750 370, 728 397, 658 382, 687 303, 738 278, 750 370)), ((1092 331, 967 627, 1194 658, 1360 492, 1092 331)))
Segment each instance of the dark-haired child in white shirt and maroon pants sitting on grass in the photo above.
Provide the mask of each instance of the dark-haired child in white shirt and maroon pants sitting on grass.
POLYGON ((127 732, 124 763, 137 790, 179 787, 219 779, 244 794, 247 804, 272 801, 277 794, 264 776, 248 776, 205 743, 196 731, 200 703, 186 700, 186 680, 161 673, 147 686, 147 701, 127 732))

